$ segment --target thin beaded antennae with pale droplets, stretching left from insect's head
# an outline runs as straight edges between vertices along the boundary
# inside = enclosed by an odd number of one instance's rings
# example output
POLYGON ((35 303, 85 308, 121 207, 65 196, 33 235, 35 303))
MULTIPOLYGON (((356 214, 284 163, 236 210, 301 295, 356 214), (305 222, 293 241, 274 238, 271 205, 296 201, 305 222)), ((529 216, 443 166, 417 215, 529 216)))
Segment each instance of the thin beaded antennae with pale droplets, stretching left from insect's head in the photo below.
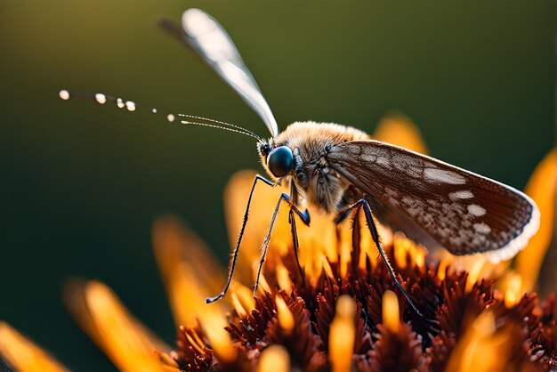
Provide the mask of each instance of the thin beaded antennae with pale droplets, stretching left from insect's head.
MULTIPOLYGON (((104 93, 85 93, 85 92, 69 91, 66 89, 62 89, 58 93, 58 96, 64 101, 68 101, 69 99, 73 99, 73 98, 81 98, 86 100, 97 101, 97 103, 101 105, 104 105, 107 102, 113 102, 116 104, 118 109, 126 109, 130 112, 135 111, 136 109, 148 109, 153 114, 159 114, 157 109, 149 109, 147 107, 139 106, 134 101, 125 101, 122 98, 112 97, 104 93)), ((225 131, 240 133, 240 134, 247 135, 249 137, 253 137, 258 142, 263 141, 263 139, 260 136, 247 130, 242 126, 230 124, 221 120, 215 120, 209 117, 198 117, 198 116, 188 115, 188 114, 167 114, 166 121, 168 123, 178 122, 183 125, 199 125, 199 126, 206 126, 209 128, 222 129, 225 131)))

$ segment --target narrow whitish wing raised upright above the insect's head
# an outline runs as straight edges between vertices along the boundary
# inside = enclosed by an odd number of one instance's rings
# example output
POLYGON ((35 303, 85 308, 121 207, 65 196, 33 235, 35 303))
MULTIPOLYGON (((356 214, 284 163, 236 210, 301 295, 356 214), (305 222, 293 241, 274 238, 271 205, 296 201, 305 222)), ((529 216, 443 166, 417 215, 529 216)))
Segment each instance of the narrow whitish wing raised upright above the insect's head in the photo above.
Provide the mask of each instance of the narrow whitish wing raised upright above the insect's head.
POLYGON ((182 28, 169 20, 163 20, 161 27, 196 51, 228 85, 259 115, 274 137, 278 126, 267 101, 238 49, 221 24, 206 12, 188 9, 182 14, 182 28))

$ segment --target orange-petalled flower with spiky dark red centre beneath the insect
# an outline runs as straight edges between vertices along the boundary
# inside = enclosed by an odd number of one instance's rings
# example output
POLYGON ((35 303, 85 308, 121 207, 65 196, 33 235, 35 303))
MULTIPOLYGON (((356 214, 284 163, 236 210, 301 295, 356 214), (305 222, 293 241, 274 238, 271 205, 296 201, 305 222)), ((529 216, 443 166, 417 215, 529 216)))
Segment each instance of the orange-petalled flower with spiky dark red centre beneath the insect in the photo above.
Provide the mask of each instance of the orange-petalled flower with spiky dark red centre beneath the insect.
MULTIPOLYGON (((379 128, 379 139, 425 151, 407 117, 392 115, 379 128)), ((431 255, 380 226, 398 279, 423 317, 394 285, 360 215, 338 227, 319 214, 311 227, 299 224, 303 274, 290 224, 279 219, 254 296, 249 286, 279 188, 256 191, 238 275, 221 302, 204 303, 226 278, 203 242, 175 217, 155 222, 155 256, 178 328, 174 346, 98 281, 71 282, 65 300, 79 326, 124 371, 549 370, 557 363, 555 297, 541 301, 529 291, 552 233, 554 193, 547 190, 555 188, 556 156, 552 151, 529 183, 542 228, 514 266, 492 265, 482 256, 431 255)), ((253 178, 253 172, 238 173, 225 190, 231 241, 253 178)), ((65 369, 5 323, 0 356, 18 370, 65 369)))

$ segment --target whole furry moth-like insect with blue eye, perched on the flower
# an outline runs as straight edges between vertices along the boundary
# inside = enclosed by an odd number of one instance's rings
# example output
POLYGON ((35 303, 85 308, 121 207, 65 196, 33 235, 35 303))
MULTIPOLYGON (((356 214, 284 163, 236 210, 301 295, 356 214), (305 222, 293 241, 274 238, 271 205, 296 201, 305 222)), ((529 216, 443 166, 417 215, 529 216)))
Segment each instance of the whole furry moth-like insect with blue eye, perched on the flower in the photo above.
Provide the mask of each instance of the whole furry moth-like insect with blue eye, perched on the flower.
MULTIPOLYGON (((283 193, 274 208, 270 228, 262 242, 255 290, 282 203, 289 206, 296 258, 295 215, 303 223, 310 224, 310 214, 307 209, 303 210, 304 201, 329 214, 337 223, 352 212, 361 211, 392 279, 420 315, 396 279, 381 246, 375 218, 395 230, 403 230, 417 241, 434 240, 453 255, 483 254, 494 263, 516 255, 536 233, 539 224, 536 204, 521 191, 500 182, 392 144, 374 141, 367 133, 350 126, 295 122, 278 133, 277 122, 254 77, 230 36, 216 20, 206 12, 190 9, 182 14, 182 28, 168 20, 161 21, 161 27, 190 46, 236 90, 262 118, 271 135, 269 140, 263 140, 238 125, 189 115, 167 116, 170 122, 180 120, 182 124, 218 127, 254 137, 258 141, 262 166, 271 179, 261 175, 255 177, 227 282, 222 293, 207 298, 206 303, 222 298, 230 287, 252 196, 259 183, 269 186, 286 183, 290 193, 283 193)), ((76 94, 80 95, 71 93, 76 94)), ((70 93, 64 90, 60 96, 69 99, 70 93)), ((136 109, 132 101, 101 93, 93 97, 101 104, 115 101, 120 108, 136 109)))

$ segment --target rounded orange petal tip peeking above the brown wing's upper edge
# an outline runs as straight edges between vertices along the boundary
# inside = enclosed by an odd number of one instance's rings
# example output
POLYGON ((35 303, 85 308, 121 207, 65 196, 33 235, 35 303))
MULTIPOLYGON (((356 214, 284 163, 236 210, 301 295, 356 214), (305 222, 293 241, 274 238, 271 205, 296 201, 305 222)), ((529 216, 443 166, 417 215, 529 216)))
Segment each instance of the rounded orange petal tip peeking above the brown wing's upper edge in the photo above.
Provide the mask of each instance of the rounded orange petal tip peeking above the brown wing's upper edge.
POLYGON ((427 148, 416 124, 398 111, 389 112, 381 119, 375 129, 374 138, 408 150, 427 154, 427 148))

